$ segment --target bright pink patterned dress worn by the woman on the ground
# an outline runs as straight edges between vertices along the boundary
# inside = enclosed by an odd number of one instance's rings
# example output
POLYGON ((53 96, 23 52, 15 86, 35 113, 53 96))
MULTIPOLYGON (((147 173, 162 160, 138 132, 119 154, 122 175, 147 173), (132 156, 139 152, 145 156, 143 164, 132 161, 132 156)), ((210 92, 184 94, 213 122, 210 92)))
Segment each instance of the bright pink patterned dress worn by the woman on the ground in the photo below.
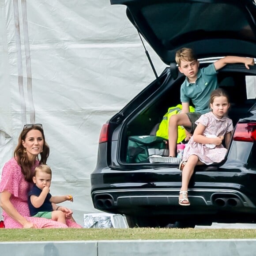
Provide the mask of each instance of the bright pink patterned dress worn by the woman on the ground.
MULTIPOLYGON (((37 162, 38 165, 38 162, 37 162)), ((2 178, 0 181, 0 192, 7 190, 11 193, 10 201, 16 210, 26 218, 28 221, 33 222, 37 225, 39 229, 41 228, 82 228, 79 224, 67 220, 67 225, 61 222, 56 222, 51 219, 46 218, 36 218, 30 217, 28 203, 27 203, 27 193, 31 187, 31 184, 25 181, 23 173, 21 172, 21 167, 18 165, 15 158, 11 158, 7 163, 5 163, 2 178)), ((4 225, 8 229, 19 229, 23 226, 11 218, 4 210, 4 225)))

